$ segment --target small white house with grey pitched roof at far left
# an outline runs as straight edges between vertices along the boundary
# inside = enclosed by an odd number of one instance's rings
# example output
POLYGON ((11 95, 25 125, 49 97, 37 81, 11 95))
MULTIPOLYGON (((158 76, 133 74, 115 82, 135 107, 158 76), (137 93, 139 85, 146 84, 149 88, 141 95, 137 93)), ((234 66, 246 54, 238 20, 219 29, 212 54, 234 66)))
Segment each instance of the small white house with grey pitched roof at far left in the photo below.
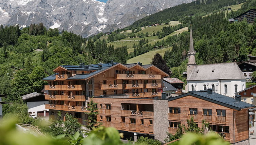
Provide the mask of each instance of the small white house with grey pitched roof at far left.
POLYGON ((28 105, 29 114, 35 114, 38 117, 48 117, 49 109, 45 109, 45 104, 48 104, 48 100, 44 99, 44 95, 34 92, 21 96, 22 99, 28 105))

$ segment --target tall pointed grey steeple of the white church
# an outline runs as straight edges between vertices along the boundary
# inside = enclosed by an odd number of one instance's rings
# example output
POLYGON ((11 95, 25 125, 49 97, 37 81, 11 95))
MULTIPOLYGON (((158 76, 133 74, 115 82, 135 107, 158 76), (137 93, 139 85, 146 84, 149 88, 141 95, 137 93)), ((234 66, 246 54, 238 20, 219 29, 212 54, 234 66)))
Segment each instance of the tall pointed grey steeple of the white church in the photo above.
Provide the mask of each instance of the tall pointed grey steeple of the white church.
POLYGON ((196 51, 194 51, 194 43, 192 36, 192 24, 190 23, 190 43, 189 43, 189 51, 187 52, 188 63, 187 63, 187 77, 189 77, 190 71, 196 65, 196 51))

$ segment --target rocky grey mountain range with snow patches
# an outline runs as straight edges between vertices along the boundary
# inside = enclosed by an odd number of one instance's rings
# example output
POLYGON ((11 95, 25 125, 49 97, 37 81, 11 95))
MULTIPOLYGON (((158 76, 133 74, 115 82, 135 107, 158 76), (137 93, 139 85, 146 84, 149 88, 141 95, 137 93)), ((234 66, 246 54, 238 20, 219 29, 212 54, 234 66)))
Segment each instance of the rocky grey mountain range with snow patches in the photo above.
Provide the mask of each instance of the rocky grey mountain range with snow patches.
POLYGON ((124 28, 133 22, 194 0, 0 0, 0 24, 27 27, 42 22, 46 28, 82 36, 124 28))

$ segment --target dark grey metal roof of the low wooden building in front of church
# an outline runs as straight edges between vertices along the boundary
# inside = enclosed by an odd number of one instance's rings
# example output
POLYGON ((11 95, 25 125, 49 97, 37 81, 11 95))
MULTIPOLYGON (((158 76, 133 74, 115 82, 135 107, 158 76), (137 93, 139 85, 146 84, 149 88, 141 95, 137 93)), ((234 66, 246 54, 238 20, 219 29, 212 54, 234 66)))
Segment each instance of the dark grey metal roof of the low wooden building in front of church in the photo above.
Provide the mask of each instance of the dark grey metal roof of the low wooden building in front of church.
POLYGON ((179 95, 179 96, 176 96, 176 97, 173 97, 173 98, 169 98, 168 100, 171 101, 171 100, 182 98, 182 97, 185 97, 185 96, 188 96, 188 95, 198 97, 198 98, 207 100, 209 102, 216 103, 216 104, 219 104, 221 106, 228 107, 228 108, 233 108, 233 109, 236 109, 236 110, 241 110, 243 108, 255 108, 255 106, 252 105, 252 104, 242 102, 242 101, 236 100, 234 98, 224 96, 224 95, 221 95, 221 94, 218 94, 218 93, 215 93, 215 92, 213 92, 212 94, 208 94, 207 90, 204 90, 204 91, 189 91, 186 94, 182 94, 182 95, 179 95))

